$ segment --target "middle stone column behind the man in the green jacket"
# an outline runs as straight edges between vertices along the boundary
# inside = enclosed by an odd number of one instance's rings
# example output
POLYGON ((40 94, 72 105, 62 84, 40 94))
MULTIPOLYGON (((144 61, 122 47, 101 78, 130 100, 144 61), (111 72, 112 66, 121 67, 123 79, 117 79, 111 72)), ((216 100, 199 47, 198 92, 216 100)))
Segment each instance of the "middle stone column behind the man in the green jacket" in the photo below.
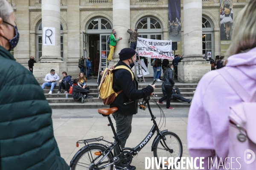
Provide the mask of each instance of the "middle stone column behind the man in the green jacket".
POLYGON ((113 55, 114 62, 119 61, 119 52, 123 48, 129 47, 128 40, 130 34, 128 34, 127 30, 130 27, 130 0, 113 0, 113 29, 116 30, 116 38, 123 38, 116 43, 113 55))

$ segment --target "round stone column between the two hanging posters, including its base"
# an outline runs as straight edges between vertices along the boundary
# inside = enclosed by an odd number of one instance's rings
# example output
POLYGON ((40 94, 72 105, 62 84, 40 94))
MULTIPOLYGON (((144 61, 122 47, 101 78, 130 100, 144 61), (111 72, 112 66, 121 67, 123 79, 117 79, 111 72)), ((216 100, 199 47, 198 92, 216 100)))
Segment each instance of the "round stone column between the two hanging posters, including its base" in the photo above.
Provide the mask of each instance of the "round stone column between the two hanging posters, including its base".
POLYGON ((178 76, 186 83, 197 83, 211 70, 202 54, 202 1, 183 1, 183 62, 178 65, 178 76))

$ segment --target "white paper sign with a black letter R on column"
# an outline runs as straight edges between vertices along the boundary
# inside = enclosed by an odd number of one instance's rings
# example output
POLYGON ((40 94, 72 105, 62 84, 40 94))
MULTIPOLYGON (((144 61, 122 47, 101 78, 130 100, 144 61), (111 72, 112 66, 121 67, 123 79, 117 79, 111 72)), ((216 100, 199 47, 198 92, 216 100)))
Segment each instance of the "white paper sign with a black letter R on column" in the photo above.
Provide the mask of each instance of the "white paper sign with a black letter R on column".
POLYGON ((43 45, 55 45, 55 28, 43 28, 43 45))

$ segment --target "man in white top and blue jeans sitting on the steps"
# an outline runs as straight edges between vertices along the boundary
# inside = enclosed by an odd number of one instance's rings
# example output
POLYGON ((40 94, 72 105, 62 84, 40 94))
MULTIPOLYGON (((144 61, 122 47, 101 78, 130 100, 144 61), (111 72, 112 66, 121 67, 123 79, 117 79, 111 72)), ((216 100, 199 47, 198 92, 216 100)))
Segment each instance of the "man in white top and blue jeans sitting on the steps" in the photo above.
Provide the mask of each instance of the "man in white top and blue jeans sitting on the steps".
POLYGON ((60 79, 60 77, 58 76, 58 74, 55 74, 55 70, 51 70, 50 73, 48 73, 45 78, 44 78, 44 83, 41 86, 41 88, 44 90, 44 87, 51 87, 51 90, 49 91, 48 94, 52 94, 52 90, 53 88, 57 85, 56 81, 58 81, 60 79))

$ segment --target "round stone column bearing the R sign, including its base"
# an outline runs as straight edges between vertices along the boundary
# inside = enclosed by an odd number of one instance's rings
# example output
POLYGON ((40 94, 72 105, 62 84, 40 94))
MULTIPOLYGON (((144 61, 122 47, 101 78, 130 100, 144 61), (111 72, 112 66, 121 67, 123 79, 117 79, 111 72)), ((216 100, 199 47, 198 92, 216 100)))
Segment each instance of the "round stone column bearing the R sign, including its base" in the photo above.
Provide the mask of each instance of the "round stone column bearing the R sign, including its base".
POLYGON ((44 82, 45 75, 49 73, 51 69, 54 69, 59 77, 62 77, 63 71, 67 71, 67 62, 64 63, 61 58, 60 0, 42 0, 42 37, 41 62, 35 63, 33 68, 33 74, 39 83, 44 82), (48 30, 46 33, 44 28, 51 29, 51 31, 48 30), (46 37, 46 35, 49 37, 46 37), (48 42, 45 43, 45 40, 48 42))

